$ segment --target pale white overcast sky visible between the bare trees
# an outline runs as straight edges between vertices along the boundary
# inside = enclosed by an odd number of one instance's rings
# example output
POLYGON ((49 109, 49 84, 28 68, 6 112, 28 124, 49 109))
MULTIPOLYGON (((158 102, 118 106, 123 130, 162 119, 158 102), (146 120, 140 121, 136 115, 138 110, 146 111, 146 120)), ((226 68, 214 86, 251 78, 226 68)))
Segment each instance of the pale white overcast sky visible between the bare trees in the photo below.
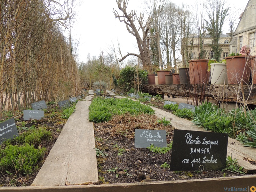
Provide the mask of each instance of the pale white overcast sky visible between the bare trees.
MULTIPOLYGON (((188 4, 192 7, 196 0, 172 2, 188 4)), ((239 17, 248 3, 247 0, 226 0, 226 2, 234 10, 232 14, 237 13, 236 17, 239 17)), ((140 7, 143 7, 143 1, 129 0, 127 9, 135 9, 139 13, 141 11, 140 7)), ((99 56, 101 51, 108 52, 113 44, 117 47, 117 41, 121 46, 123 55, 128 52, 138 53, 135 37, 128 33, 124 22, 115 19, 113 8, 117 10, 116 0, 85 0, 76 10, 78 16, 71 33, 73 39, 79 40, 79 63, 81 61, 86 62, 88 53, 91 57, 99 56)), ((228 32, 228 28, 224 28, 224 32, 228 32)))

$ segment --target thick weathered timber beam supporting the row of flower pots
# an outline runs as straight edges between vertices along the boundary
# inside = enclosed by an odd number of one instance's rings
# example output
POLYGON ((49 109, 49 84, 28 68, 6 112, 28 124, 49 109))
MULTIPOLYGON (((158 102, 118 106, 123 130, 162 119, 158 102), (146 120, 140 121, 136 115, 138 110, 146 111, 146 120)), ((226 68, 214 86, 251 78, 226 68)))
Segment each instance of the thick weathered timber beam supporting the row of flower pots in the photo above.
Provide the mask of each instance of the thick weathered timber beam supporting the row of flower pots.
MULTIPOLYGON (((241 93, 241 87, 239 85, 188 85, 188 84, 168 84, 168 85, 143 85, 144 92, 154 93, 154 94, 168 94, 168 95, 178 95, 182 97, 189 97, 193 94, 200 96, 200 90, 204 90, 204 98, 213 99, 224 99, 225 102, 236 102, 237 95, 238 98, 243 98, 241 93), (205 89, 203 89, 205 88, 205 89), (240 90, 240 91, 238 91, 240 90), (239 93, 237 93, 239 92, 239 93), (224 94, 223 94, 224 93, 224 94)), ((247 103, 256 105, 256 84, 253 85, 243 85, 245 100, 248 98, 247 103), (251 92, 250 92, 251 90, 251 92)), ((242 100, 238 100, 238 103, 242 100)))

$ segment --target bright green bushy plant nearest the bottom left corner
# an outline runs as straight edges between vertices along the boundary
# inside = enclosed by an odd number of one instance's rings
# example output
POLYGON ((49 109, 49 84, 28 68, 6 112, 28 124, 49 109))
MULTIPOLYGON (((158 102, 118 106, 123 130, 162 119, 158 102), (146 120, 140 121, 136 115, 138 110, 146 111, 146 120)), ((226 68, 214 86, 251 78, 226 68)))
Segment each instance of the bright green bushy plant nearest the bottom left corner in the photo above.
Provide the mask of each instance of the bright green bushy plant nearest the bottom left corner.
POLYGON ((0 167, 2 170, 12 170, 16 172, 32 173, 37 169, 38 161, 46 152, 46 148, 36 149, 33 145, 24 146, 7 145, 0 151, 0 167))

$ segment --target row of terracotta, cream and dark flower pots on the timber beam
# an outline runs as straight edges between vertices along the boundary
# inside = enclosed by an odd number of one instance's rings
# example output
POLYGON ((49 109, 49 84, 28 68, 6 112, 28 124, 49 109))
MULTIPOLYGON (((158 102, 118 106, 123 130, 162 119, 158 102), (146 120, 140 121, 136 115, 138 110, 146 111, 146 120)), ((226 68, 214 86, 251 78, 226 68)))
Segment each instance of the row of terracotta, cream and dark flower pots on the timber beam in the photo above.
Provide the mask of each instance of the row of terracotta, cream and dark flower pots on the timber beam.
MULTIPOLYGON (((256 84, 256 59, 244 55, 226 57, 226 63, 212 63, 211 84, 256 84)), ((157 71, 148 75, 148 84, 207 84, 210 72, 208 60, 190 60, 189 68, 179 68, 179 74, 169 75, 169 71, 157 71), (157 80, 156 80, 157 79, 157 80)))

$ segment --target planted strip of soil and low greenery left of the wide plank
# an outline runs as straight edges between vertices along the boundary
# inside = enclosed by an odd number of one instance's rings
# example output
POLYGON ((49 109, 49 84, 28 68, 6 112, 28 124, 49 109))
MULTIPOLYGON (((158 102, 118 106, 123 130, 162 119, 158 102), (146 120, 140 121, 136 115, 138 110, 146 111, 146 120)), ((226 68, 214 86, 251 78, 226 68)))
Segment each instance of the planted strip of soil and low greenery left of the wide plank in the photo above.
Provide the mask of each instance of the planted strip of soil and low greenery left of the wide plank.
POLYGON ((33 182, 75 105, 59 109, 50 101, 41 120, 15 119, 19 137, 3 142, 0 148, 0 186, 29 186, 33 182))

